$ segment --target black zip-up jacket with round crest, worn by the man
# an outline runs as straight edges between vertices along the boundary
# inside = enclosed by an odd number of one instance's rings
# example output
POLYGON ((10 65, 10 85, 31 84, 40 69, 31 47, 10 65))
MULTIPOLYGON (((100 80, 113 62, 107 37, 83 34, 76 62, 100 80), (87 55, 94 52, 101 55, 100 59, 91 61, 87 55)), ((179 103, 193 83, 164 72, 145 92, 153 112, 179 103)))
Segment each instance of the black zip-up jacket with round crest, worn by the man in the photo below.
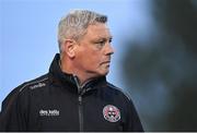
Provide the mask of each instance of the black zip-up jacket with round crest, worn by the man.
POLYGON ((143 131, 132 101, 100 77, 78 85, 56 55, 49 72, 26 82, 2 102, 0 131, 143 131))

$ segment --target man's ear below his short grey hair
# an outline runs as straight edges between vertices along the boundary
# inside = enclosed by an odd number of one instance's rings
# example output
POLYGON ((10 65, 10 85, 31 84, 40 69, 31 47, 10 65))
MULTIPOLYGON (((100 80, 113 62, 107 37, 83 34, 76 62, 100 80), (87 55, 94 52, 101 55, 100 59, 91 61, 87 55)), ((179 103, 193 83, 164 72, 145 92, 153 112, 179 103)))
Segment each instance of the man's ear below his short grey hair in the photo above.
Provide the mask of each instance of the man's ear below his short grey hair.
POLYGON ((74 52, 76 45, 74 45, 74 43, 76 41, 72 40, 72 39, 66 39, 65 40, 63 50, 65 50, 65 52, 67 53, 67 56, 69 58, 74 58, 74 56, 76 56, 76 52, 74 52))

